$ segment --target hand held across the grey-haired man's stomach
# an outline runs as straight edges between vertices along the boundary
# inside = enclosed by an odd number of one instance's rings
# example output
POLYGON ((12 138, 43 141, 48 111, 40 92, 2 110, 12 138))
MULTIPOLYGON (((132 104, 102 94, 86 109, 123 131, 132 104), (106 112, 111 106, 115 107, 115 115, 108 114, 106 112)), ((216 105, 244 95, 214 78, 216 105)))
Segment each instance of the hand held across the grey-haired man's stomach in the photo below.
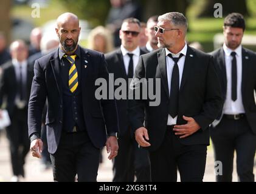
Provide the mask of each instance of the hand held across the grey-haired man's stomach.
POLYGON ((187 121, 187 124, 175 125, 173 127, 173 130, 176 132, 175 135, 181 135, 179 138, 186 138, 201 128, 192 117, 183 116, 183 119, 187 121))

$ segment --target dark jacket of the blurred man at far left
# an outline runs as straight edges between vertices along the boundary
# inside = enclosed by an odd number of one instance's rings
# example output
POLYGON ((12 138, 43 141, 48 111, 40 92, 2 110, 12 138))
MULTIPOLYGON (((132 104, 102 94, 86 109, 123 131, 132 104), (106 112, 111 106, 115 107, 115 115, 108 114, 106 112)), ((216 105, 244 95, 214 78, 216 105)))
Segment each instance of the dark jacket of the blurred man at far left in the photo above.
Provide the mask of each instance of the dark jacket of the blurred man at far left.
MULTIPOLYGON (((26 101, 29 101, 30 89, 33 79, 33 65, 27 65, 27 84, 26 84, 26 101)), ((18 82, 16 81, 15 67, 12 61, 2 65, 2 76, 0 81, 0 107, 3 98, 7 99, 7 111, 12 118, 13 110, 15 109, 15 98, 18 92, 18 82)), ((27 106, 26 106, 27 108, 27 106)))

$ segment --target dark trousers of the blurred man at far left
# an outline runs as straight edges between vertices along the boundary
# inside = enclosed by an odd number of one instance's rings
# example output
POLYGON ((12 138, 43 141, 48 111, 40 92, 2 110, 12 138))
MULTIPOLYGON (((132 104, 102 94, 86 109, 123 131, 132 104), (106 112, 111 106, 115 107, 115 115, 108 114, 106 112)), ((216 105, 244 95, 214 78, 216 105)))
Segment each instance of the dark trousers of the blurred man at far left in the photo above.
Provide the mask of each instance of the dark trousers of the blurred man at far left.
POLYGON ((13 111, 11 125, 7 127, 7 137, 10 142, 10 155, 13 175, 25 176, 24 164, 29 152, 30 141, 27 136, 27 109, 13 111))

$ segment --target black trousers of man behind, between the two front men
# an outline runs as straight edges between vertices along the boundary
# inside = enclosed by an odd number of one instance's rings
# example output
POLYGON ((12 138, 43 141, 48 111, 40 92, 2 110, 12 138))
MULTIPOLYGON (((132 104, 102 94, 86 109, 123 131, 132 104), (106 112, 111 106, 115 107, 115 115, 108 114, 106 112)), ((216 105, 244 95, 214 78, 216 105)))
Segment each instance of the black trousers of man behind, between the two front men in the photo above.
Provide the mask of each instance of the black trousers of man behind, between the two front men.
POLYGON ((113 159, 113 182, 151 181, 148 151, 140 149, 130 130, 118 139, 119 150, 113 159))

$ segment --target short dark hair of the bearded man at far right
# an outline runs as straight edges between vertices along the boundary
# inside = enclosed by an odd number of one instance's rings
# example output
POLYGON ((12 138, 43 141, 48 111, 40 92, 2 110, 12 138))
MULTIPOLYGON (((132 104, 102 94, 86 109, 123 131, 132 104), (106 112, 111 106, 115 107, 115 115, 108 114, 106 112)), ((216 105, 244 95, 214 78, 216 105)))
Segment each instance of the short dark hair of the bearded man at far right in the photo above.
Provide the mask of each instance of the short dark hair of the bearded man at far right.
POLYGON ((245 30, 245 21, 241 13, 230 13, 224 19, 224 27, 230 26, 234 28, 243 28, 245 30))

